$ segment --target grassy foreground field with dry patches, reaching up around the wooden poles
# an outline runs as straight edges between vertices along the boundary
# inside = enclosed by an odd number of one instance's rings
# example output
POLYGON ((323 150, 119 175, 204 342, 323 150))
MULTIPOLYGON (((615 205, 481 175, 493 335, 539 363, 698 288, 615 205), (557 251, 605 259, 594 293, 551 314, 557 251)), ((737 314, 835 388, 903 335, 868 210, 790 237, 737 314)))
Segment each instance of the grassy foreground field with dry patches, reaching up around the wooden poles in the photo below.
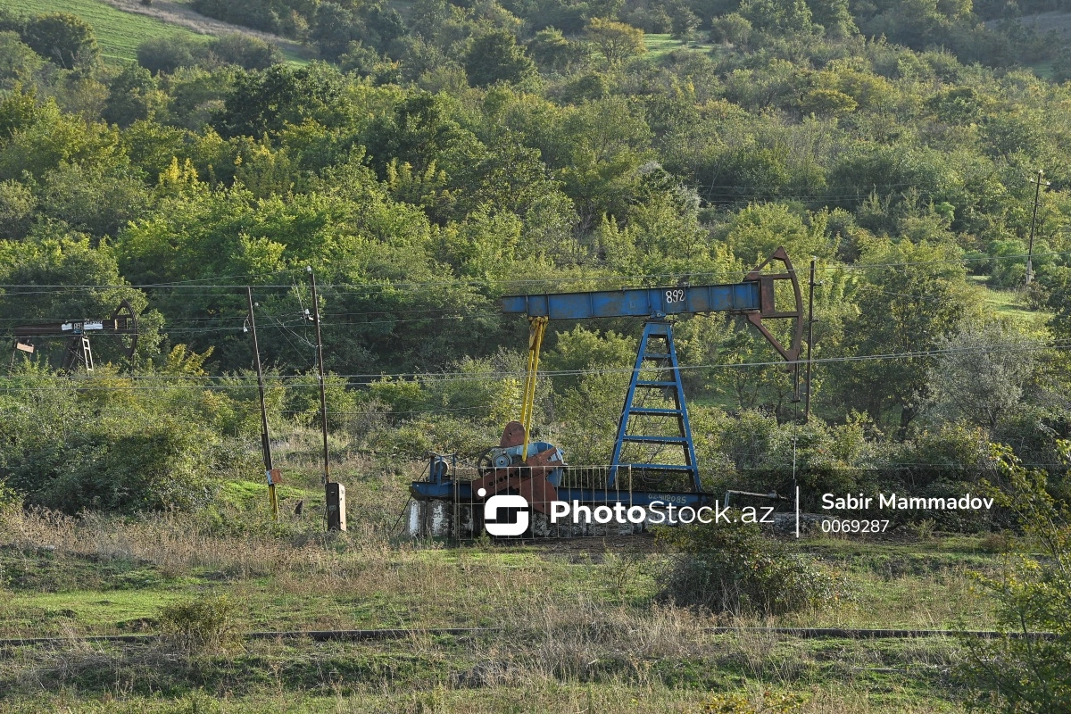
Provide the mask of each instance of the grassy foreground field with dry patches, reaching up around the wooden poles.
MULTIPOLYGON (((832 607, 714 617, 659 596, 650 536, 446 547, 394 534, 408 469, 343 460, 350 531, 320 532, 315 444, 277 455, 284 518, 236 481, 198 514, 139 519, 6 512, 0 522, 0 714, 15 712, 705 711, 719 693, 800 697, 799 712, 961 712, 961 644, 806 640, 714 625, 992 626, 970 571, 998 557, 970 536, 817 537, 805 550, 851 582, 832 607), (292 514, 297 499, 306 518, 292 514), (396 627, 399 640, 228 639, 188 651, 160 633, 169 604, 224 595, 236 635, 396 627), (441 627, 493 627, 466 636, 441 627)), ((721 710, 714 710, 721 711, 721 710)), ((794 710, 795 711, 795 710, 794 710)))

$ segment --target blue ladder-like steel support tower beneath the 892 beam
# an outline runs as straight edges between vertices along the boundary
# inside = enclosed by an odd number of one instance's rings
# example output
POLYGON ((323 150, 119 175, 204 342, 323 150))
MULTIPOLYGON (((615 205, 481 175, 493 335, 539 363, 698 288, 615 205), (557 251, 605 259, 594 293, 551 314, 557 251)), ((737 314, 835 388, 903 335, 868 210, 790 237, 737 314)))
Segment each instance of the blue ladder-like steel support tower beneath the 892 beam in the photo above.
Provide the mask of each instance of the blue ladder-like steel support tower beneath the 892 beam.
POLYGON ((699 481, 699 467, 696 465, 695 444, 692 441, 692 427, 688 422, 688 407, 684 404, 684 386, 680 381, 680 365, 677 362, 677 348, 673 341, 673 322, 666 320, 648 320, 644 324, 644 335, 639 338, 639 351, 636 353, 636 364, 632 368, 632 380, 629 382, 629 392, 624 397, 624 407, 621 410, 621 422, 617 427, 617 440, 614 443, 614 456, 610 458, 609 475, 606 487, 613 488, 617 481, 618 469, 632 468, 638 471, 678 471, 692 476, 695 491, 703 490, 699 481), (650 340, 662 339, 665 341, 665 351, 652 351, 650 340), (661 370, 669 370, 673 379, 643 380, 639 378, 639 370, 645 362, 658 363, 661 370), (660 389, 672 394, 675 409, 647 409, 635 407, 634 401, 637 389, 660 389), (629 432, 629 421, 632 416, 673 416, 677 419, 679 436, 650 436, 629 432), (684 464, 621 464, 621 454, 625 442, 667 444, 680 446, 684 452, 684 464))

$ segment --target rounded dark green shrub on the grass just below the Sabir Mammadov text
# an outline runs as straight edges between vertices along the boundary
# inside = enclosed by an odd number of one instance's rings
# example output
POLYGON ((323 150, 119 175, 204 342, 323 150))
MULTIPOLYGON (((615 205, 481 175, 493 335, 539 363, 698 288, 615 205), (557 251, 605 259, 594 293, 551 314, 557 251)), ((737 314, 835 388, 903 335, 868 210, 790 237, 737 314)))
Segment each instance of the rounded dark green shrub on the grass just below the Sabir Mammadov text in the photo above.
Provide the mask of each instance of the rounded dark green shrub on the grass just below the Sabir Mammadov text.
POLYGON ((821 608, 847 595, 845 582, 808 557, 763 535, 756 523, 665 528, 677 551, 660 576, 662 597, 713 612, 781 614, 821 608))

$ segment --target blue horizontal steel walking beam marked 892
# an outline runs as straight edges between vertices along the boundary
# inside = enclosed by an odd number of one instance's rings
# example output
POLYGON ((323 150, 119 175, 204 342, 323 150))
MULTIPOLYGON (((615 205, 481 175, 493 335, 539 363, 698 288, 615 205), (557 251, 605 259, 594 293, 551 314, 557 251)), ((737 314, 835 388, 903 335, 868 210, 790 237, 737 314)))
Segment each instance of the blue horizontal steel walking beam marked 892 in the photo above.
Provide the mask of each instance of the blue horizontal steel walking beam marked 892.
POLYGON ((692 313, 758 312, 758 280, 733 285, 688 285, 676 288, 624 288, 594 292, 557 292, 502 298, 502 312, 582 320, 593 317, 651 317, 692 313))

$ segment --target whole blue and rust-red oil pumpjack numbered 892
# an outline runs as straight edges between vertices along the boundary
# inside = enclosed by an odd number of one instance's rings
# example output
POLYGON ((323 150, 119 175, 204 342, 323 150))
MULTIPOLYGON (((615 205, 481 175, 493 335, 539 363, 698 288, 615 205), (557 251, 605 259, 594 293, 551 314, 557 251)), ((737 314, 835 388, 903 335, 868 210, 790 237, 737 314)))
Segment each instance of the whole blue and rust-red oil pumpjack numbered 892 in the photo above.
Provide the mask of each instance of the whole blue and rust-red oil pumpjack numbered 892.
MULTIPOLYGON (((743 316, 789 363, 794 377, 804 324, 799 280, 783 247, 736 284, 510 295, 501 299, 501 308, 507 314, 525 315, 530 323, 521 419, 506 425, 498 446, 480 456, 474 468, 459 467, 456 456, 431 457, 427 476, 410 486, 409 533, 413 536, 479 535, 484 528, 483 506, 498 495, 521 496, 528 503, 531 518, 525 536, 597 533, 598 527, 591 523, 553 523, 549 516, 555 501, 589 507, 621 504, 624 508, 658 503, 693 508, 710 505, 718 497, 704 491, 699 477, 674 345, 675 319, 710 313, 743 316), (773 263, 783 270, 764 272, 773 263), (789 309, 779 309, 775 304, 779 284, 790 286, 782 291, 791 303, 789 309), (613 456, 604 467, 570 467, 560 449, 530 439, 543 335, 550 320, 610 317, 645 320, 613 456), (787 346, 767 324, 779 319, 794 320, 787 346), (657 406, 647 406, 651 395, 657 406), (644 449, 646 455, 637 454, 644 449), (669 454, 663 455, 667 450, 669 454)), ((798 393, 798 379, 794 383, 798 393)), ((632 532, 644 526, 630 525, 624 530, 632 532)))

